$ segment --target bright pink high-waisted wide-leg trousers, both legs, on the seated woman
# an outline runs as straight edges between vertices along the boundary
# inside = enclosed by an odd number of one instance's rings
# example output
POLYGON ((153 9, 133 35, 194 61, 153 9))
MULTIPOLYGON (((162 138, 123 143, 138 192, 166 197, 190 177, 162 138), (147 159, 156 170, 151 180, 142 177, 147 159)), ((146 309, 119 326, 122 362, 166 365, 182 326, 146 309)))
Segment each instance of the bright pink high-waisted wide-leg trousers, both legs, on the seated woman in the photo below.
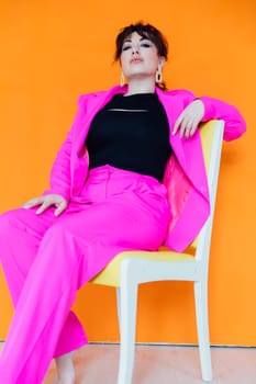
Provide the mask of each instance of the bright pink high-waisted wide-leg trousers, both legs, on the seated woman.
POLYGON ((116 253, 156 250, 169 222, 157 180, 103 166, 67 210, 0 216, 0 261, 15 307, 0 358, 3 384, 42 383, 53 357, 87 342, 70 308, 77 290, 116 253))

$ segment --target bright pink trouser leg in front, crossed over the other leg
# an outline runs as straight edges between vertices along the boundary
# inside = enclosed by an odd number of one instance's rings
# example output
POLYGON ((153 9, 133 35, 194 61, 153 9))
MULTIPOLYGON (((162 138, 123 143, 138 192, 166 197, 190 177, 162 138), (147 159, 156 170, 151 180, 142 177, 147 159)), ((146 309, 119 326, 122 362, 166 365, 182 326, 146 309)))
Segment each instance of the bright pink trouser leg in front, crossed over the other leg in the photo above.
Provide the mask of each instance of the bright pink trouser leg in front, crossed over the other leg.
POLYGON ((141 199, 122 196, 65 216, 47 230, 0 359, 4 384, 42 382, 76 291, 119 251, 159 247, 166 223, 151 211, 141 199))

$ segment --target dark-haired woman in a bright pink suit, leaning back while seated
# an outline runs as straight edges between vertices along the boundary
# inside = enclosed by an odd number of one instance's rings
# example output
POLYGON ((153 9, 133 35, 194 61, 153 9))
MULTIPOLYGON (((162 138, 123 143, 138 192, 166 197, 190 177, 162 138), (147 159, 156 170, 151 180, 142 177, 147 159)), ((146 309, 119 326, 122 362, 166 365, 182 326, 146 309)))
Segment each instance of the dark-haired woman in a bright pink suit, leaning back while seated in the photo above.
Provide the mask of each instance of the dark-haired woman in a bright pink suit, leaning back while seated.
POLYGON ((4 384, 41 383, 53 357, 57 383, 75 383, 73 351, 87 342, 70 312, 76 291, 120 251, 185 249, 209 214, 198 124, 223 118, 226 140, 245 131, 234 106, 165 91, 167 43, 154 26, 123 29, 115 59, 127 86, 79 98, 51 189, 0 218, 15 305, 0 359, 4 384), (177 185, 178 206, 168 199, 177 185))

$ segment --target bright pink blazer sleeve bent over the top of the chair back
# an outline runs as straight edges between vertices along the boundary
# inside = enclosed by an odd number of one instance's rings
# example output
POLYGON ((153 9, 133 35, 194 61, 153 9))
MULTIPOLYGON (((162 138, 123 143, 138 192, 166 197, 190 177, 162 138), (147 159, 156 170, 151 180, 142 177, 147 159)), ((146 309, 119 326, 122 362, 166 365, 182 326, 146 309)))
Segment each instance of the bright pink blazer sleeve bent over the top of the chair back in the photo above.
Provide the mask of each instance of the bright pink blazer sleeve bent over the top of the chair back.
POLYGON ((201 97, 199 99, 204 104, 204 116, 202 122, 212 118, 223 120, 225 122, 223 135, 224 140, 231 142, 244 134, 246 131, 245 120, 234 105, 209 97, 201 97))

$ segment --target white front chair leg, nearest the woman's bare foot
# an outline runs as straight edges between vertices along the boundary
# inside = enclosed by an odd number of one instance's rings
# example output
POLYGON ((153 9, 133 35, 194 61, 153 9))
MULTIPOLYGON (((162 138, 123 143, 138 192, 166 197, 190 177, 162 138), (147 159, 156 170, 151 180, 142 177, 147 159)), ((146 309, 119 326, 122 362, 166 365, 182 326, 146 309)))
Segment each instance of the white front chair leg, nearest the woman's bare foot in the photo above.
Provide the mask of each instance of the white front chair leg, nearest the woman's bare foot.
POLYGON ((120 289, 120 362, 118 384, 131 384, 134 365, 137 284, 120 289))

